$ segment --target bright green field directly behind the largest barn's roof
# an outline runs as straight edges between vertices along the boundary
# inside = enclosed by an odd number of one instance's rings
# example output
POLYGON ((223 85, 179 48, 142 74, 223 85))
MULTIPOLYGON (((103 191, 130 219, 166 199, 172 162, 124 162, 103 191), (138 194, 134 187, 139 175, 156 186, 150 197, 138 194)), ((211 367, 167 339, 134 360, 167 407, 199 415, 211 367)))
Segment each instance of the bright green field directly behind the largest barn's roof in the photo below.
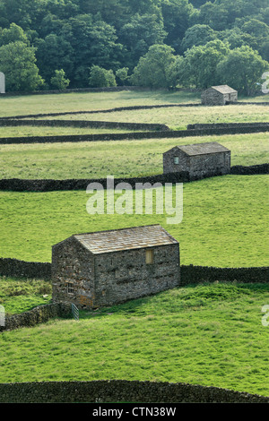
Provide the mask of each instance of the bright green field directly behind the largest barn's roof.
POLYGON ((51 245, 73 234, 158 223, 178 239, 182 264, 268 264, 268 176, 230 175, 185 184, 183 219, 173 224, 167 218, 179 215, 178 208, 168 212, 164 207, 156 214, 154 195, 152 214, 122 215, 107 214, 106 204, 104 214, 87 213, 90 197, 86 190, 1 192, 1 257, 50 262, 51 245))

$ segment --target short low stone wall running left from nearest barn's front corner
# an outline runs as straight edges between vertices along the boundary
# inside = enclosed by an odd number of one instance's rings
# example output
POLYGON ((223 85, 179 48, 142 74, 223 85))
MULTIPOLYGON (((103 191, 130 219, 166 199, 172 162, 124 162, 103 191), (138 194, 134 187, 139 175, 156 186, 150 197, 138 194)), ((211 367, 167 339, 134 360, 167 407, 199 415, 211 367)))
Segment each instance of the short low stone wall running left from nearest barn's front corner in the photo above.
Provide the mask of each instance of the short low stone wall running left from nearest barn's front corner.
POLYGON ((22 327, 34 326, 38 323, 48 322, 49 319, 56 317, 66 318, 71 314, 72 309, 70 304, 53 303, 48 305, 39 305, 38 307, 33 308, 29 312, 5 315, 4 326, 0 325, 0 332, 13 331, 14 329, 19 329, 22 327))

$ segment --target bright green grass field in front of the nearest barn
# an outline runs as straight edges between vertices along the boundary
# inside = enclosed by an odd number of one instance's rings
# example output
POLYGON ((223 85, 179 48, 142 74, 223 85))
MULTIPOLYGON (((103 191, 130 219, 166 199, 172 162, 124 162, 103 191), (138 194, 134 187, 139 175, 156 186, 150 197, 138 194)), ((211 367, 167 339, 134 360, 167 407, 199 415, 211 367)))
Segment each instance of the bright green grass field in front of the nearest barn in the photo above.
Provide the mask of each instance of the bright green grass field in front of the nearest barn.
POLYGON ((268 285, 204 284, 7 331, 0 382, 188 382, 268 396, 268 302, 268 285))

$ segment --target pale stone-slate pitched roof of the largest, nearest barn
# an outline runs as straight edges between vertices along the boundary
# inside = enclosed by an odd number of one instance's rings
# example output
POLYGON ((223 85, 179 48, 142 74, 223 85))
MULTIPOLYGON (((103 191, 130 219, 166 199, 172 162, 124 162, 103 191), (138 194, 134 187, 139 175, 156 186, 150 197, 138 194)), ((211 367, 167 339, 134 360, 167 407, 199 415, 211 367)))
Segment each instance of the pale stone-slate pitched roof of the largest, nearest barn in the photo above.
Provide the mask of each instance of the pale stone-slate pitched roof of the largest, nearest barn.
POLYGON ((178 241, 160 225, 112 229, 77 234, 73 237, 94 254, 178 244, 178 241))

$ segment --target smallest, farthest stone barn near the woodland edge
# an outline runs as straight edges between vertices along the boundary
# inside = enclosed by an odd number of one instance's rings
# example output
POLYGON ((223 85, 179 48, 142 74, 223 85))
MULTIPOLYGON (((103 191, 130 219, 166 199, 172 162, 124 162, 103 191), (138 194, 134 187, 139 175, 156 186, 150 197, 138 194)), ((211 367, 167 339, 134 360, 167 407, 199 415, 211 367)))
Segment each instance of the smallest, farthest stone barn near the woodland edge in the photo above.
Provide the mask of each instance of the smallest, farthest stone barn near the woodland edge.
POLYGON ((212 86, 201 95, 202 104, 207 106, 222 106, 238 101, 238 91, 228 85, 212 86))

